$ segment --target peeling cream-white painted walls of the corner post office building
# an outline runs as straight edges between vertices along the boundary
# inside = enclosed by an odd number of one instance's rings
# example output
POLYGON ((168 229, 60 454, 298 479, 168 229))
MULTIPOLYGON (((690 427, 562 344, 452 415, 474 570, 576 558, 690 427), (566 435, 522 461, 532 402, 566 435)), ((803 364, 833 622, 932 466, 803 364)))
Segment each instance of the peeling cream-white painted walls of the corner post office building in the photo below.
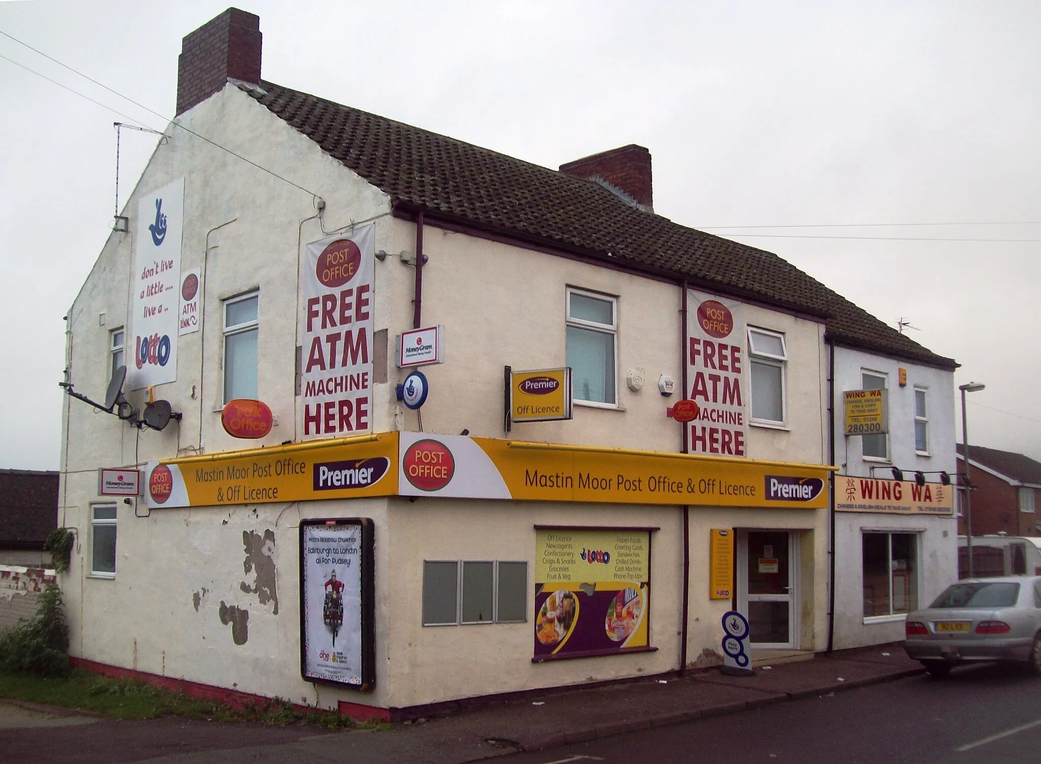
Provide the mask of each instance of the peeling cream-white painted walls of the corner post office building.
MULTIPOLYGON (((204 328, 179 338, 178 378, 155 393, 183 413, 162 432, 137 431, 116 417, 66 402, 60 520, 76 529, 72 569, 61 577, 74 656, 247 692, 281 695, 323 707, 337 699, 406 706, 487 692, 578 683, 667 670, 679 665, 682 590, 682 513, 679 508, 582 505, 492 505, 421 500, 271 504, 232 509, 157 510, 120 503, 115 580, 91 578, 90 511, 99 466, 298 439, 294 432, 294 349, 297 274, 303 243, 376 220, 376 249, 391 253, 376 263, 375 327, 393 336, 411 328, 414 270, 396 253, 414 251, 415 226, 389 215, 389 199, 322 153, 235 87, 226 87, 179 118, 193 130, 250 157, 320 195, 322 223, 308 220, 313 200, 300 190, 183 131, 171 128, 138 183, 148 193, 185 177, 182 270, 205 268, 204 328), (219 230, 222 224, 229 223, 219 230), (207 237, 208 236, 208 237, 207 237), (235 440, 220 424, 222 299, 259 288, 259 398, 278 425, 259 442, 235 440), (299 677, 297 526, 301 517, 364 515, 377 533, 377 687, 364 696, 320 688, 299 677), (530 663, 532 627, 424 629, 420 626, 422 560, 456 555, 478 559, 534 557, 536 523, 655 525, 652 642, 656 653, 530 663), (275 533, 279 612, 244 590, 243 534, 275 533), (502 555, 502 556, 500 556, 502 555), (195 595, 199 596, 196 609, 195 595), (220 621, 220 604, 250 612, 249 639, 235 645, 220 621), (552 667, 550 667, 552 666, 552 667)), ((74 302, 69 317, 69 379, 78 391, 103 394, 109 373, 109 331, 126 326, 138 190, 127 201, 129 234, 113 233, 74 302), (98 314, 105 313, 99 326, 98 314)), ((588 263, 541 254, 428 226, 424 270, 424 324, 448 328, 448 362, 428 367, 431 393, 424 409, 428 431, 502 436, 503 365, 562 365, 564 298, 568 285, 618 296, 619 407, 576 406, 575 419, 517 426, 515 438, 678 451, 679 426, 665 417, 671 400, 656 389, 660 374, 679 382, 681 288, 588 263), (625 384, 633 366, 646 370, 639 392, 625 384)), ((790 361, 784 430, 750 428, 750 456, 821 463, 826 459, 822 326, 787 313, 747 306, 750 324, 786 334, 790 361)), ((130 351, 132 353, 132 349, 130 351)), ((129 355, 129 354, 128 354, 129 355)), ((393 386, 404 374, 391 365, 372 406, 376 431, 392 429, 393 386)), ((128 392, 143 404, 142 392, 128 392)), ((417 429, 413 412, 402 414, 417 429)), ((804 646, 820 648, 824 628, 827 554, 822 511, 692 510, 689 656, 715 648, 726 603, 709 603, 710 528, 797 528, 804 536, 804 646), (812 553, 812 554, 808 554, 812 553), (806 567, 809 565, 809 567, 806 567)), ((533 575, 533 568, 530 571, 533 575)))

